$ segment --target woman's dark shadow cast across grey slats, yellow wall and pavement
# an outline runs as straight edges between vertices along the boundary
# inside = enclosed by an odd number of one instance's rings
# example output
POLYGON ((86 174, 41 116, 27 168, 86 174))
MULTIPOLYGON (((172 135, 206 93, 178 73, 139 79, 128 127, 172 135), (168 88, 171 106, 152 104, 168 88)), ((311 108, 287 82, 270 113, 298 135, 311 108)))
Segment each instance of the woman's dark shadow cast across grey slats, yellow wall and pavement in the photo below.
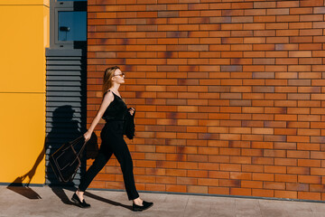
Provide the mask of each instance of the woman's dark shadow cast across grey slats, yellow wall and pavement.
MULTIPOLYGON (((12 184, 9 184, 7 187, 8 189, 14 191, 15 193, 19 193, 28 199, 42 199, 42 197, 38 193, 34 192, 29 186, 31 184, 32 177, 35 175, 37 167, 42 162, 45 152, 46 158, 48 159, 48 156, 51 156, 64 143, 67 143, 76 137, 80 137, 83 134, 81 131, 86 131, 86 129, 79 127, 79 121, 74 120, 73 118, 74 110, 71 106, 61 106, 53 111, 51 132, 47 135, 45 145, 43 146, 40 155, 37 157, 35 164, 25 175, 18 176, 12 184), (27 177, 28 182, 26 183, 25 179, 27 177)), ((79 149, 77 149, 77 151, 79 151, 79 149)), ((96 137, 96 134, 93 134, 91 139, 88 141, 86 153, 87 156, 83 155, 82 157, 82 165, 79 169, 79 176, 86 171, 86 159, 95 158, 98 154, 98 137, 96 137)), ((60 183, 57 177, 54 175, 51 165, 49 164, 46 165, 46 179, 46 183, 51 187, 53 185, 74 186, 76 184, 74 182, 67 184, 60 183)), ((61 199, 66 198, 62 188, 56 188, 55 191, 53 190, 53 193, 55 193, 61 199)), ((64 199, 64 202, 68 203, 67 201, 67 199, 64 199)))

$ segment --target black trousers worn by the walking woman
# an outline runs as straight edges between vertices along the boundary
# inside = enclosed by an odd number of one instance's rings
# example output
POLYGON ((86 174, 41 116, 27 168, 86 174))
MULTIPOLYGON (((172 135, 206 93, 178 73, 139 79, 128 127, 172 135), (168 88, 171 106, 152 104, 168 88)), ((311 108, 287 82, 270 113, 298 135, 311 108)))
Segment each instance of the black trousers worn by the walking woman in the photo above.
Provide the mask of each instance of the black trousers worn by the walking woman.
POLYGON ((130 151, 123 137, 123 121, 109 121, 103 127, 100 137, 102 144, 93 165, 91 165, 85 175, 81 177, 79 190, 86 191, 91 181, 98 175, 99 171, 107 164, 109 158, 114 154, 121 165, 125 190, 129 200, 139 197, 135 188, 135 178, 133 174, 133 163, 130 151))

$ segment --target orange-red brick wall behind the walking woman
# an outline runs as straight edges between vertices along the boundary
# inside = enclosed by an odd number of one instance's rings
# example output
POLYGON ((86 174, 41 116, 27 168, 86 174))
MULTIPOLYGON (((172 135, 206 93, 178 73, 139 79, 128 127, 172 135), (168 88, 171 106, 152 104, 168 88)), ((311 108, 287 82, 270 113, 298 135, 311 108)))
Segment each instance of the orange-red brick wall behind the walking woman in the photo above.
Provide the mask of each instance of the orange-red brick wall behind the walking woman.
MULTIPOLYGON (((119 65, 138 190, 324 200, 324 14, 323 0, 88 0, 88 125, 119 65)), ((124 188, 115 158, 90 187, 124 188)))

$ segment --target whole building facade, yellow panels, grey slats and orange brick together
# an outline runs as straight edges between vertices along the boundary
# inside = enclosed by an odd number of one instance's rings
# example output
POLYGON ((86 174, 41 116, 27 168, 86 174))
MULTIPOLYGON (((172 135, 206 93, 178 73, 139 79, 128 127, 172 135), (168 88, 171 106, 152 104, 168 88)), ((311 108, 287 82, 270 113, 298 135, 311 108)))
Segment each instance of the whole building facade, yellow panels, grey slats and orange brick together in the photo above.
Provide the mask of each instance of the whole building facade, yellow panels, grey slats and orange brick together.
MULTIPOLYGON (((32 183, 51 184, 48 155, 89 127, 103 72, 118 65, 121 95, 136 109, 135 138, 125 139, 138 190, 324 199, 323 0, 88 0, 87 46, 69 39, 70 23, 52 18, 48 1, 34 1, 0 4, 11 30, 0 40, 0 182, 37 165, 32 183)), ((90 187, 124 188, 115 157, 90 187)))

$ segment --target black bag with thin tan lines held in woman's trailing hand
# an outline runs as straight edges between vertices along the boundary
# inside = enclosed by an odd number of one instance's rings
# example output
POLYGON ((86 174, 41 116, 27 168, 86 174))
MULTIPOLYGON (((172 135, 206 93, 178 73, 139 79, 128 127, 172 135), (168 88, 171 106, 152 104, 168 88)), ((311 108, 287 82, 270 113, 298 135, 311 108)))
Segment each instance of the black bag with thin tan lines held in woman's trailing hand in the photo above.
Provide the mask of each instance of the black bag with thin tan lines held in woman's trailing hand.
POLYGON ((81 136, 60 146, 60 148, 50 156, 49 161, 51 167, 60 182, 69 183, 73 180, 81 165, 80 156, 85 146, 85 138, 81 136), (81 148, 79 152, 76 152, 75 147, 80 145, 81 148))

